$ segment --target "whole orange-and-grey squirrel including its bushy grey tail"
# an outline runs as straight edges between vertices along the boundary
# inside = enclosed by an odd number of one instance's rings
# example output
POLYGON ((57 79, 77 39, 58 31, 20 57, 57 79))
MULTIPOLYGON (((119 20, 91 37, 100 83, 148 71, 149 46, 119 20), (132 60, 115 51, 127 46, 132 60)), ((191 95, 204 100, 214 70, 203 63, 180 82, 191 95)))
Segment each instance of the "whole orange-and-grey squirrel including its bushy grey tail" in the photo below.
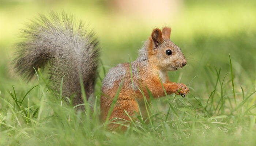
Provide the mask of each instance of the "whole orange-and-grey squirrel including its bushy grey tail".
MULTIPOLYGON (((183 97, 189 93, 185 84, 171 82, 167 76, 167 71, 187 64, 181 49, 170 41, 170 32, 169 27, 162 31, 154 29, 135 61, 118 64, 109 70, 102 81, 102 121, 113 118, 130 121, 129 116, 139 112, 136 100, 143 100, 143 95, 149 99, 150 94, 155 98, 163 97, 165 91, 168 95, 175 93, 183 97), (118 88, 116 104, 107 117, 118 88)), ((39 15, 23 30, 23 39, 16 48, 14 69, 24 78, 30 80, 35 74, 34 69, 47 66, 50 87, 54 91, 59 91, 65 75, 63 96, 75 95, 74 105, 83 103, 79 76, 82 77, 87 99, 93 95, 99 62, 98 40, 82 22, 76 23, 64 12, 62 15, 52 12, 49 18, 39 15)), ((111 124, 109 129, 117 127, 118 124, 111 124)))

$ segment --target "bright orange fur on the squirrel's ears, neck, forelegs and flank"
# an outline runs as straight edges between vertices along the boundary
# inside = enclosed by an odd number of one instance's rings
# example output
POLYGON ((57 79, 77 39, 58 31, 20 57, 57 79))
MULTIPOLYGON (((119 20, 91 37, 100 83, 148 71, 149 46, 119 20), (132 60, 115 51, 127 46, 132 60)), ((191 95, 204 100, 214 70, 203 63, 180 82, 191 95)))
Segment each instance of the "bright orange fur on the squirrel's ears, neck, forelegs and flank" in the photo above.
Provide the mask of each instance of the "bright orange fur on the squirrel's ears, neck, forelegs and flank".
MULTIPOLYGON (((170 33, 170 28, 165 27, 163 29, 163 38, 166 38, 170 33)), ((169 35, 170 36, 170 35, 169 35)), ((101 96, 101 117, 102 120, 106 120, 106 116, 108 115, 109 108, 112 104, 114 97, 116 96, 117 90, 120 86, 120 82, 123 82, 123 86, 121 87, 121 91, 118 95, 117 103, 114 105, 113 111, 108 120, 112 120, 113 118, 120 118, 124 120, 130 120, 129 116, 133 117, 134 113, 138 113, 138 104, 136 100, 143 100, 143 94, 140 91, 143 91, 144 96, 149 99, 149 93, 147 89, 151 92, 153 97, 158 98, 165 96, 165 92, 167 94, 176 93, 177 95, 184 93, 188 93, 189 89, 186 85, 181 83, 175 83, 169 81, 169 77, 167 76, 167 72, 164 72, 165 81, 163 81, 163 86, 159 79, 159 61, 154 57, 156 53, 154 48, 157 48, 159 44, 163 41, 162 32, 159 29, 154 29, 151 38, 149 38, 149 43, 147 46, 148 50, 148 62, 149 66, 142 67, 138 65, 138 74, 132 74, 134 89, 131 86, 131 74, 130 74, 130 64, 125 63, 122 66, 125 69, 125 74, 122 76, 122 80, 116 80, 112 88, 102 87, 102 96, 101 96), (138 87, 136 86, 138 85, 138 87), (139 88, 139 89, 138 89, 139 88), (178 90, 181 89, 179 93, 178 90), (125 113, 124 111, 127 111, 125 113), (127 115, 129 114, 129 116, 127 115)), ((120 120, 116 119, 114 121, 120 120)), ((109 129, 114 130, 118 127, 118 124, 110 124, 109 129)), ((122 127, 125 130, 125 127, 122 127)))

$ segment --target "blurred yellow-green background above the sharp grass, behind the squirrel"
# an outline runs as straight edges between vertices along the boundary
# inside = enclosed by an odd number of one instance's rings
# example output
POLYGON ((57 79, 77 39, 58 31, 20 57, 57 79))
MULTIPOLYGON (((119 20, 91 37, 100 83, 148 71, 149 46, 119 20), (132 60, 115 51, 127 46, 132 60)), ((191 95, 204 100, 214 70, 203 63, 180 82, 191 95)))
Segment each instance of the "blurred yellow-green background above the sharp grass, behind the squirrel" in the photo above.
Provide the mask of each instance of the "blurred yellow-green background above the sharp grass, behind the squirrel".
POLYGON ((237 86, 251 88, 256 69, 255 6, 253 0, 132 0, 131 4, 116 0, 1 0, 0 91, 4 95, 11 85, 26 84, 10 74, 14 43, 25 23, 51 10, 64 10, 94 29, 106 69, 129 62, 129 57, 134 61, 153 28, 170 26, 171 40, 188 60, 184 68, 169 73, 171 81, 182 75, 181 82, 189 84, 196 77, 190 86, 196 90, 194 94, 202 96, 206 93, 203 87, 209 84, 206 68, 221 68, 226 74, 230 54, 237 86))

